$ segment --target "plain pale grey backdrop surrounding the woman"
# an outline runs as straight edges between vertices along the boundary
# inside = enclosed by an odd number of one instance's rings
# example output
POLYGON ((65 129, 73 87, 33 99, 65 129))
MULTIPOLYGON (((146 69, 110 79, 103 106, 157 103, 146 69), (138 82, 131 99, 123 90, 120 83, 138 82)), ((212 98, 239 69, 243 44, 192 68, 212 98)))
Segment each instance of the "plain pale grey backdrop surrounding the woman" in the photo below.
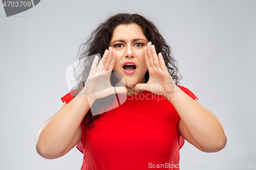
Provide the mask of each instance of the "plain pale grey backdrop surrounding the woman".
POLYGON ((0 6, 0 169, 80 169, 83 155, 76 148, 58 159, 40 157, 35 135, 62 105, 65 70, 79 45, 116 12, 140 13, 156 23, 179 61, 181 85, 226 126, 227 145, 218 153, 185 142, 181 169, 256 163, 255 8, 256 1, 248 0, 48 0, 6 17, 0 6))

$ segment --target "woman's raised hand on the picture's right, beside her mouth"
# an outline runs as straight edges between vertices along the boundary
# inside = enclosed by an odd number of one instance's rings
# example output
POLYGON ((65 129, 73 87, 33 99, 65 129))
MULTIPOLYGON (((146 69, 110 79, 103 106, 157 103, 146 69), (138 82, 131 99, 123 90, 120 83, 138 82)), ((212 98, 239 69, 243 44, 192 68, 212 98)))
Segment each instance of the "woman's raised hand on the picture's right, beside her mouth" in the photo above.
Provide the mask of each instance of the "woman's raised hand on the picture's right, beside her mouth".
POLYGON ((136 90, 147 90, 159 95, 171 95, 178 86, 174 83, 165 66, 161 53, 156 53, 155 45, 151 42, 144 47, 144 57, 146 66, 150 74, 150 79, 146 84, 137 84, 136 90))

